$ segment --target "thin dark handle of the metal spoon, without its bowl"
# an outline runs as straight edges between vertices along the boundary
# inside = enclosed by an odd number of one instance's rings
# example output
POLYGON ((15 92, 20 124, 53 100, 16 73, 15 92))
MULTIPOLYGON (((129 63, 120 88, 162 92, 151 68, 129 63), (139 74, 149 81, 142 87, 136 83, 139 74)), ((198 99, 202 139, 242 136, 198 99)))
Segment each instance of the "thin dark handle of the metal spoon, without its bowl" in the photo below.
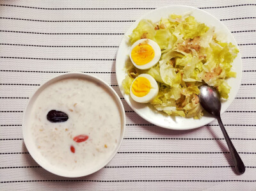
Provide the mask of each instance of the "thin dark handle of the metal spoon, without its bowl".
POLYGON ((228 134, 225 130, 225 127, 221 121, 221 118, 220 116, 217 116, 216 117, 218 119, 218 123, 220 125, 220 128, 221 128, 221 131, 225 137, 225 140, 227 142, 227 145, 228 145, 228 149, 230 151, 230 154, 232 156, 232 159, 233 159, 233 162, 234 162, 234 165, 235 165, 235 168, 236 168, 236 171, 238 174, 243 174, 244 171, 245 171, 245 167, 244 167, 244 163, 243 161, 241 160, 241 158, 239 157, 237 151, 236 151, 236 148, 234 147, 234 145, 232 144, 232 141, 230 140, 230 138, 228 137, 228 134))

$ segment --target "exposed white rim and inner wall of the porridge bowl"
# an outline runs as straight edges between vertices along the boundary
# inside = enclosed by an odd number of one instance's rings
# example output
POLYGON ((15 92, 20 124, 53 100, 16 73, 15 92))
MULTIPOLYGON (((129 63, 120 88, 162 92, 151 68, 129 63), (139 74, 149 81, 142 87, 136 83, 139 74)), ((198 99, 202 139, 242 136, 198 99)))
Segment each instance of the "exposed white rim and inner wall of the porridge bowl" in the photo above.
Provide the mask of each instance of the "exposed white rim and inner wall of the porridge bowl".
POLYGON ((99 171, 104 167, 106 164, 110 162, 110 160, 115 157, 120 144, 122 143, 122 140, 124 139, 124 132, 125 132, 125 111, 124 106, 122 105, 122 102, 117 95, 117 93, 111 88, 106 82, 103 80, 93 77, 92 75, 84 74, 84 73, 65 73, 63 75, 59 75, 58 77, 54 77, 53 79, 48 80, 44 84, 42 84, 34 93, 34 95, 29 99, 28 105, 26 107, 26 110, 24 112, 23 121, 22 121, 22 133, 24 142, 26 144, 26 148, 28 149, 31 157, 45 170, 52 172, 53 174, 57 174, 59 176, 65 176, 65 177, 80 177, 80 176, 86 176, 88 174, 92 174, 93 172, 99 171), (86 79, 93 82, 97 82, 97 84, 100 84, 104 88, 108 90, 110 95, 113 96, 113 99, 116 102, 116 105, 118 106, 119 112, 120 112, 120 118, 121 118, 121 131, 120 131, 120 138, 118 141, 118 144, 116 145, 116 148, 111 153, 110 157, 106 158, 104 162, 101 164, 95 165, 95 167, 92 167, 91 169, 77 169, 74 171, 68 171, 65 168, 56 167, 55 165, 52 165, 47 159, 45 159, 38 148, 36 148, 35 141, 32 139, 31 132, 29 130, 29 116, 31 116, 31 111, 33 104, 35 103, 36 98, 42 91, 49 86, 50 84, 57 82, 59 80, 63 79, 70 79, 70 78, 79 78, 79 79, 86 79))

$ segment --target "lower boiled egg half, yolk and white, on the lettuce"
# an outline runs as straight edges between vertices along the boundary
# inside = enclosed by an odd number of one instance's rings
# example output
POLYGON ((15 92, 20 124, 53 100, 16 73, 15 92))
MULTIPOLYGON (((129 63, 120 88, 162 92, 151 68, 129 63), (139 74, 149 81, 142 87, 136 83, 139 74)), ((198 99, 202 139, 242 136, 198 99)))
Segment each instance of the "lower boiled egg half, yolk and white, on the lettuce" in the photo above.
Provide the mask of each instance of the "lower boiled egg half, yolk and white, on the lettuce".
POLYGON ((158 94, 158 84, 151 75, 142 73, 133 80, 130 94, 135 102, 151 102, 158 94))

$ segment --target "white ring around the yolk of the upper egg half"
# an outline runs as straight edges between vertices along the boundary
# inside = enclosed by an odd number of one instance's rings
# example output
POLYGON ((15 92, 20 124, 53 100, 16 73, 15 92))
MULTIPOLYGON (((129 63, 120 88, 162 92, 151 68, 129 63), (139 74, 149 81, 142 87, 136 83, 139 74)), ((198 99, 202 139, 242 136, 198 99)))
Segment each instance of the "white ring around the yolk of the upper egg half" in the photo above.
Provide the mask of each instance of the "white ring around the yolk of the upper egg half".
POLYGON ((151 68, 152 66, 156 65, 156 63, 159 61, 159 59, 161 57, 161 49, 160 49, 159 45, 156 42, 154 42, 154 40, 150 40, 150 39, 144 38, 144 39, 137 40, 136 42, 133 43, 133 45, 131 46, 131 50, 130 50, 129 56, 131 58, 132 64, 136 68, 139 68, 141 70, 147 70, 148 68, 151 68), (155 56, 152 59, 152 61, 150 61, 149 63, 147 63, 145 65, 137 65, 132 60, 132 56, 131 56, 132 49, 134 49, 134 47, 136 47, 136 45, 139 45, 140 43, 145 43, 145 42, 147 42, 147 44, 150 45, 152 47, 152 49, 154 49, 155 56))

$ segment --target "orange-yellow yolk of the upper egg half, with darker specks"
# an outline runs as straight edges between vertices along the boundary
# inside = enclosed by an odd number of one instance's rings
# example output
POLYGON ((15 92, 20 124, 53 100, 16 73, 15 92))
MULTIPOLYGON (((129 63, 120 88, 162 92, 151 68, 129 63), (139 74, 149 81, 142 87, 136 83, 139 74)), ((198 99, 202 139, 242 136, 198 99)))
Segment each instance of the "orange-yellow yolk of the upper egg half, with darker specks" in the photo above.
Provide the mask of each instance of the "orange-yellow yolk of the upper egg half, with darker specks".
POLYGON ((132 49, 131 57, 136 65, 145 65, 155 56, 154 49, 147 43, 140 43, 132 49))

